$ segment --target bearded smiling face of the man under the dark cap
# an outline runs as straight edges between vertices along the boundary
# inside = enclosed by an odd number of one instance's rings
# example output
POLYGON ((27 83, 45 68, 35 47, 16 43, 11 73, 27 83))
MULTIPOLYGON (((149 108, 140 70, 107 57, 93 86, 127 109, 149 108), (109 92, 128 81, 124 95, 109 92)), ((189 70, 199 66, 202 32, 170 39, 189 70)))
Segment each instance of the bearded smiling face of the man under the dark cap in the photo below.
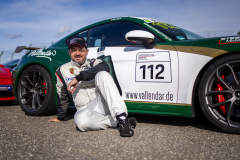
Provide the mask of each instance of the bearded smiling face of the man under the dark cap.
POLYGON ((85 47, 80 47, 78 45, 73 45, 69 50, 68 53, 72 59, 72 61, 82 65, 85 63, 88 50, 85 47))

